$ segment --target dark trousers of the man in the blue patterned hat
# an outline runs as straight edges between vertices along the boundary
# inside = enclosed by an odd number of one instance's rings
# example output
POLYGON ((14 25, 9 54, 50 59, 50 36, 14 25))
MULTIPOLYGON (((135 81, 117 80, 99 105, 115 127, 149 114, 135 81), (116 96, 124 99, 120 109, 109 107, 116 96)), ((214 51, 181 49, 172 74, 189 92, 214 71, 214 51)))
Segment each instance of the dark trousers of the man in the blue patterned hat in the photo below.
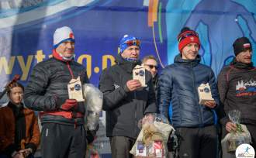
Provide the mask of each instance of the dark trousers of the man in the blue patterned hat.
POLYGON ((132 158, 133 155, 130 154, 130 149, 132 149, 133 144, 136 139, 131 139, 125 136, 112 136, 110 139, 112 158, 132 158))

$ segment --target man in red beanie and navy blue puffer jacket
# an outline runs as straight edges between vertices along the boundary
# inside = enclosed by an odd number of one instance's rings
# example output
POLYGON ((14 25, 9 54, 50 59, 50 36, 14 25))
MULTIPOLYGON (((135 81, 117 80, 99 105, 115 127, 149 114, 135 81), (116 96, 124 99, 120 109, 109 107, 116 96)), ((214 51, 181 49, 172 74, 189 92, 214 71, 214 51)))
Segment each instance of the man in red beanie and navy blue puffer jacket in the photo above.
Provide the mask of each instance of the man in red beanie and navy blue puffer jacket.
POLYGON ((178 35, 175 63, 165 67, 158 81, 159 112, 168 117, 178 136, 178 156, 216 158, 216 112, 219 98, 213 70, 200 64, 200 41, 185 27, 178 35), (209 84, 212 101, 199 104, 198 88, 209 84), (171 106, 169 108, 169 106, 171 106))

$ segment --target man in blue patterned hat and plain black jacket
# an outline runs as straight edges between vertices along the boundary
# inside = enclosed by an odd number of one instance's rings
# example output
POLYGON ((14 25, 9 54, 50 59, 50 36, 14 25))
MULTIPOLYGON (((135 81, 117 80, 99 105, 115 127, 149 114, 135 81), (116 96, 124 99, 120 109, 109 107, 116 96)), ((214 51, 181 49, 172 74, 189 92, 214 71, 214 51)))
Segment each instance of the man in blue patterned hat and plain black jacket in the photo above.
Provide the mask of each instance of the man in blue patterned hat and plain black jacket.
POLYGON ((116 65, 103 70, 99 89, 104 94, 106 135, 110 139, 112 158, 132 157, 129 153, 140 132, 138 123, 146 113, 157 112, 154 86, 146 71, 147 87, 133 80, 133 68, 140 64, 140 40, 123 36, 116 65))

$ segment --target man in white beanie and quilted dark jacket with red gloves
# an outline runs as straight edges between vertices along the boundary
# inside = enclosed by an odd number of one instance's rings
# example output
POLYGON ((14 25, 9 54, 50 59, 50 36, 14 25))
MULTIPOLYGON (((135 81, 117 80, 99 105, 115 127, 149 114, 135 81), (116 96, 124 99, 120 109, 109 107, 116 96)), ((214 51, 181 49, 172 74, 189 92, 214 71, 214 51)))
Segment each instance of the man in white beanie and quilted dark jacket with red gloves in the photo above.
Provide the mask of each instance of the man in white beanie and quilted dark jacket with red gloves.
MULTIPOLYGON (((67 89, 71 79, 89 82, 85 67, 74 61, 74 42, 69 27, 56 29, 53 57, 33 67, 25 90, 25 105, 41 111, 43 157, 85 157, 85 106, 70 99, 67 89)), ((80 91, 81 86, 74 89, 80 91)))

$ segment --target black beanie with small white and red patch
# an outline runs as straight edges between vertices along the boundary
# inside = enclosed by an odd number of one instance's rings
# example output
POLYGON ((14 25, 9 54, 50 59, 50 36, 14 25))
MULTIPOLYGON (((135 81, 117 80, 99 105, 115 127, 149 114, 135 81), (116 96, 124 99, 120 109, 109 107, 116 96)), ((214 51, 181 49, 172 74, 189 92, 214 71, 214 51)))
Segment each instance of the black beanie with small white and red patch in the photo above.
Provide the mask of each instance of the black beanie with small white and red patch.
POLYGON ((247 37, 240 37, 233 43, 234 54, 237 56, 238 53, 244 50, 251 50, 251 42, 247 37))

